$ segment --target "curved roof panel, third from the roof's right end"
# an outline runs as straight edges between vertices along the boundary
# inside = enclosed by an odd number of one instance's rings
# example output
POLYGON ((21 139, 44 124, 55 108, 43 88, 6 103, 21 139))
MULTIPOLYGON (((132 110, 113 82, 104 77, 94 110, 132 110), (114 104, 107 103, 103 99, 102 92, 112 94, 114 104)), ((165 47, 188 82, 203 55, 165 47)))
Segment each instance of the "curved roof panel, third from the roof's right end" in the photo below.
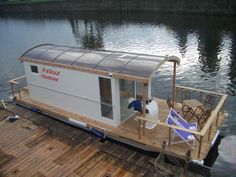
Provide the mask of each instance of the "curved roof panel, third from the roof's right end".
POLYGON ((96 66, 108 55, 109 52, 89 51, 73 63, 73 66, 96 68, 96 66))

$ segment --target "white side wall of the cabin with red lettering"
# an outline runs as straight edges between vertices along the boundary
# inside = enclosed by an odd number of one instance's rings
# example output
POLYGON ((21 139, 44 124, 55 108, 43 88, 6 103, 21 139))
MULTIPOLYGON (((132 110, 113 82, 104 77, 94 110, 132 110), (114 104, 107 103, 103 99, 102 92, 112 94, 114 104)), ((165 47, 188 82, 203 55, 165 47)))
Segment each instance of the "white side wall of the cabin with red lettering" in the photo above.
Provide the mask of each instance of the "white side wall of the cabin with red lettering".
MULTIPOLYGON (((101 117, 98 75, 76 70, 44 66, 24 62, 29 94, 33 100, 46 103, 70 112, 77 113, 110 125, 117 125, 117 110, 113 110, 113 120, 101 117), (38 74, 32 73, 30 65, 38 66, 38 74), (60 72, 58 81, 43 79, 43 67, 60 72)), ((51 75, 44 73, 45 75, 51 75)), ((112 88, 116 87, 112 79, 112 88)), ((116 104, 115 92, 112 91, 113 105, 116 104)), ((114 106, 115 108, 116 106, 114 106)))

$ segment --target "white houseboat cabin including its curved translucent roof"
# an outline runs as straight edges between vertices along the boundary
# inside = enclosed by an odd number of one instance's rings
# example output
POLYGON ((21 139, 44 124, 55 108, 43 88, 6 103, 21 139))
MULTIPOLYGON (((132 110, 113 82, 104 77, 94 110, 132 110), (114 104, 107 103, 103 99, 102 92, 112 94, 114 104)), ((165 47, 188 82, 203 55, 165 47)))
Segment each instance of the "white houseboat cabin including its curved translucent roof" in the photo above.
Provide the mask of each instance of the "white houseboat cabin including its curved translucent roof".
POLYGON ((151 97, 151 79, 157 69, 165 61, 179 62, 174 56, 48 44, 28 50, 20 60, 32 100, 114 127, 133 114, 129 98, 151 97))

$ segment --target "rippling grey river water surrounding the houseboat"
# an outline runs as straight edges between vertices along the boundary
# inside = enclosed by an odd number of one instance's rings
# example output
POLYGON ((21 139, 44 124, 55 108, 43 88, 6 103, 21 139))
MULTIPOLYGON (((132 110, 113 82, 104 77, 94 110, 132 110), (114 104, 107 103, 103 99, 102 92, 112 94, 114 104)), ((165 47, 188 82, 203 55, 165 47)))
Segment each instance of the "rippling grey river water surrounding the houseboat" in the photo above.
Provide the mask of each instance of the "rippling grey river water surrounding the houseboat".
MULTIPOLYGON (((8 80, 24 74, 17 58, 43 43, 181 58, 177 83, 229 95, 213 176, 236 175, 236 19, 148 13, 0 15, 0 98, 8 80)), ((170 94, 172 69, 157 74, 152 92, 170 94)))

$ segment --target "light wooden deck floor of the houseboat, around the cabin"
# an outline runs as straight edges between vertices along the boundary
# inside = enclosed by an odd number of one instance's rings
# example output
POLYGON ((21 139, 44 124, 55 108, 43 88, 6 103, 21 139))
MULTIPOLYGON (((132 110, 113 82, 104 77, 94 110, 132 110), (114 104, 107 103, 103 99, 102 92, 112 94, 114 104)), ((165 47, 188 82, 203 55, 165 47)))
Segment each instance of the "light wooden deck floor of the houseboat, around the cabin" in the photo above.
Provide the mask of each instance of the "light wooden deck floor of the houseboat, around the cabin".
MULTIPOLYGON (((73 119, 82 121, 91 127, 96 127, 104 131, 107 135, 117 138, 123 141, 127 141, 132 144, 139 145, 146 149, 151 149, 154 151, 160 151, 161 145, 163 140, 168 141, 169 137, 169 129, 168 127, 157 125, 152 130, 145 129, 145 134, 141 135, 141 138, 138 138, 138 131, 137 131, 137 121, 134 118, 128 119, 122 125, 117 128, 112 126, 103 124, 98 121, 91 120, 86 117, 81 117, 77 114, 67 112, 62 109, 58 109, 29 98, 28 92, 26 89, 21 91, 21 98, 17 96, 16 100, 19 104, 27 105, 30 107, 38 108, 40 111, 47 113, 51 116, 61 118, 61 119, 68 119, 73 117, 73 119)), ((168 107, 164 100, 158 99, 158 105, 160 110, 160 121, 164 123, 166 121, 166 117, 168 115, 168 107)), ((180 109, 180 105, 176 106, 177 110, 180 109)), ((222 125, 224 120, 224 114, 219 114, 218 124, 219 127, 222 125)), ((210 148, 211 148, 211 141, 214 139, 216 133, 218 131, 218 127, 212 126, 212 130, 210 133, 210 138, 204 138, 202 141, 202 146, 200 149, 200 156, 198 155, 199 143, 196 141, 195 148, 192 149, 192 157, 195 160, 204 160, 207 156, 210 148)), ((168 152, 172 153, 174 156, 179 158, 185 158, 185 154, 190 147, 186 143, 171 145, 168 147, 168 152)))

